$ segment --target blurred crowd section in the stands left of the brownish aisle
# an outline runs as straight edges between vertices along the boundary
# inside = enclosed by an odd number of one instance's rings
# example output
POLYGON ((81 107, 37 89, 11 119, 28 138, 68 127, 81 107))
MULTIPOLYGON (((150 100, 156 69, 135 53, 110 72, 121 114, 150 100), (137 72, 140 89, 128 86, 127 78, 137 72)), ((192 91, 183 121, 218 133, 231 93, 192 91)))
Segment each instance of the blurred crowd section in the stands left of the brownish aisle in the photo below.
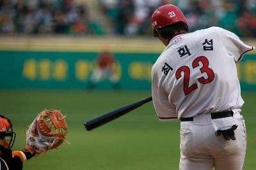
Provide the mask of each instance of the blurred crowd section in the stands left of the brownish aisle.
POLYGON ((0 0, 1 33, 83 34, 88 30, 86 6, 72 0, 0 0))

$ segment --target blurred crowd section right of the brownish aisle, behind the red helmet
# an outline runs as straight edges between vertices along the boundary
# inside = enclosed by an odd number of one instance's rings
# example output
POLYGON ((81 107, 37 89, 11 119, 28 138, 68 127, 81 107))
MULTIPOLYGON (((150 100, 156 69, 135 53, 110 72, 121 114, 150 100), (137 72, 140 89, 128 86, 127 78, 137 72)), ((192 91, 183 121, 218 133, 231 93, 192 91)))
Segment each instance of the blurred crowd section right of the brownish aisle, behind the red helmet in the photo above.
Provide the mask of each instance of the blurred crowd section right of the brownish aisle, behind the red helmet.
POLYGON ((152 34, 150 16, 157 6, 175 4, 190 31, 220 26, 239 36, 256 36, 256 0, 99 0, 116 34, 152 34))

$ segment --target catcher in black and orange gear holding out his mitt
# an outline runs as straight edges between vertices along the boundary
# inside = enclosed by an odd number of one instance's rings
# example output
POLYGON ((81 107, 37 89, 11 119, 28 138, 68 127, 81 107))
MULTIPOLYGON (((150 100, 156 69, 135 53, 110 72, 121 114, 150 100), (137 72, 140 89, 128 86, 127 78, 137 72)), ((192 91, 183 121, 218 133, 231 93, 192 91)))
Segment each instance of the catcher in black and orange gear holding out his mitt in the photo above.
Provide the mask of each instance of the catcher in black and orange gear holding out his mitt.
POLYGON ((0 169, 1 170, 19 170, 23 167, 23 162, 29 160, 35 155, 45 153, 47 150, 57 148, 63 143, 62 132, 49 132, 51 136, 42 134, 51 131, 51 127, 47 125, 44 118, 51 119, 52 129, 61 129, 63 126, 67 128, 65 117, 60 111, 44 110, 29 125, 26 132, 26 148, 23 150, 11 150, 15 141, 15 132, 13 132, 11 121, 0 115, 0 169), (43 115, 46 115, 43 117, 43 115))

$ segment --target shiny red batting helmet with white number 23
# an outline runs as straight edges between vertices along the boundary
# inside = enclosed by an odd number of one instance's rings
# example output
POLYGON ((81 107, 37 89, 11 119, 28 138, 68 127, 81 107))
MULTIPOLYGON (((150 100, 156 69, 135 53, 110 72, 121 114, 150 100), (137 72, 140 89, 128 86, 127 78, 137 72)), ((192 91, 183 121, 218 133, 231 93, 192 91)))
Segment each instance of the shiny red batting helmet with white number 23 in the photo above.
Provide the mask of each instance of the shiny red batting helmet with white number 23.
POLYGON ((151 17, 152 29, 164 27, 175 22, 184 22, 188 25, 182 11, 173 4, 166 4, 157 8, 151 17))

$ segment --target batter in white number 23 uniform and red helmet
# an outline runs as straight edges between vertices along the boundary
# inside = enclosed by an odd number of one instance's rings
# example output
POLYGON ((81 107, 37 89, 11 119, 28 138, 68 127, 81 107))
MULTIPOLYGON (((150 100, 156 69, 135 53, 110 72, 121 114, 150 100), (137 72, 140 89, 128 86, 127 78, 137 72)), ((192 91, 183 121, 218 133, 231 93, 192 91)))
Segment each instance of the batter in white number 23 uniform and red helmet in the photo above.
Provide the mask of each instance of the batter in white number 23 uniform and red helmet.
POLYGON ((236 63, 253 47, 220 27, 188 32, 172 4, 154 11, 151 22, 166 46, 152 67, 153 103, 159 120, 180 120, 179 168, 242 169, 246 129, 236 63))

